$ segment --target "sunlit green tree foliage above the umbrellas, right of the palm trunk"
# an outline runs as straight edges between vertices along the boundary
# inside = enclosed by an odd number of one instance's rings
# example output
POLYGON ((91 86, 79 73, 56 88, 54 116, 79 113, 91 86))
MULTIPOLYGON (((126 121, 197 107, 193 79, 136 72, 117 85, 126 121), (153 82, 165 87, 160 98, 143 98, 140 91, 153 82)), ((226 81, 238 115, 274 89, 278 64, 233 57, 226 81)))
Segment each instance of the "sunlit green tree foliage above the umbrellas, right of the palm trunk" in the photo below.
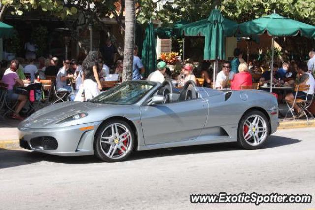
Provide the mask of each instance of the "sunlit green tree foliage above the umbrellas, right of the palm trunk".
MULTIPOLYGON (((151 0, 142 2, 149 1, 151 0)), ((156 12, 156 18, 165 25, 182 19, 193 22, 207 18, 215 5, 218 5, 224 17, 239 23, 271 14, 274 10, 292 19, 308 24, 315 23, 314 0, 174 0, 174 3, 166 2, 162 9, 156 12)), ((146 7, 144 4, 141 6, 146 7)), ((151 5, 148 4, 148 7, 151 5)), ((152 14, 150 9, 143 12, 146 11, 152 14)))

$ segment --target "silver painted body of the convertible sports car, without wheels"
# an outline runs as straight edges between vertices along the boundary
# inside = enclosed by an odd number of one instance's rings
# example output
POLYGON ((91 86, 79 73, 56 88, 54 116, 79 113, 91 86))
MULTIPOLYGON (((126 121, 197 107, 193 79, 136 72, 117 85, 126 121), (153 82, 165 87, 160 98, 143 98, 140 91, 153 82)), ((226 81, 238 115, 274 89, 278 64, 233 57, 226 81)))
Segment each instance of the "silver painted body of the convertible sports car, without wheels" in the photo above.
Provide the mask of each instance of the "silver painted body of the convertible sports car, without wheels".
POLYGON ((278 109, 277 100, 267 92, 232 91, 231 97, 225 101, 224 91, 195 87, 198 99, 147 106, 146 101, 159 87, 157 83, 133 105, 65 102, 46 107, 20 123, 19 137, 29 142, 31 138, 49 135, 55 137, 60 145, 57 150, 32 148, 35 151, 66 156, 90 155, 93 154, 95 134, 101 123, 111 117, 122 117, 130 120, 136 129, 137 150, 231 142, 237 141, 237 126, 242 115, 253 107, 266 111, 272 133, 277 129, 278 114, 270 114, 278 109), (80 112, 86 112, 88 116, 56 124, 80 112), (94 130, 79 130, 91 125, 94 130))

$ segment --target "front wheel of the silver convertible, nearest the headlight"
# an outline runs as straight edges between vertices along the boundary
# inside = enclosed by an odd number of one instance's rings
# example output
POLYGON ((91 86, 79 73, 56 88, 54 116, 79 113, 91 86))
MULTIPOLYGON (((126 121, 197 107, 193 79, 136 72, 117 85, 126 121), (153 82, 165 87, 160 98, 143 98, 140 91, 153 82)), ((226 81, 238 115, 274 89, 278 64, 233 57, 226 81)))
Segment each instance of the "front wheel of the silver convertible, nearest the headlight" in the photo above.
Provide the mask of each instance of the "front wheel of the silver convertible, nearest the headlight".
POLYGON ((126 160, 134 149, 134 133, 123 120, 109 120, 101 125, 95 135, 95 156, 105 162, 126 160))

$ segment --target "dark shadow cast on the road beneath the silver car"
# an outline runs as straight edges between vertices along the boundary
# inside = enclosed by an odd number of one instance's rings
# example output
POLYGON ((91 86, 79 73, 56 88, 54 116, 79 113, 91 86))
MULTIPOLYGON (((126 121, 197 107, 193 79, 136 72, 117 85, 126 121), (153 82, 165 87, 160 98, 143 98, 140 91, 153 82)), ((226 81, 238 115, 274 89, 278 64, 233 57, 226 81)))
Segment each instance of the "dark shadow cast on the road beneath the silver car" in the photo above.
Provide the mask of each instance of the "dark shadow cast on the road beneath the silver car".
MULTIPOLYGON (((262 149, 281 147, 301 142, 298 139, 291 139, 281 136, 270 136, 262 149)), ((165 156, 176 156, 186 154, 211 153, 211 152, 228 152, 235 150, 243 150, 237 143, 209 144, 198 146, 187 146, 178 148, 167 148, 158 150, 146 150, 135 152, 128 161, 134 161, 145 158, 158 158, 165 156)), ((91 164, 100 163, 94 156, 81 157, 63 157, 48 155, 28 150, 4 150, 0 149, 0 169, 20 165, 32 164, 40 161, 48 161, 63 164, 91 164)))

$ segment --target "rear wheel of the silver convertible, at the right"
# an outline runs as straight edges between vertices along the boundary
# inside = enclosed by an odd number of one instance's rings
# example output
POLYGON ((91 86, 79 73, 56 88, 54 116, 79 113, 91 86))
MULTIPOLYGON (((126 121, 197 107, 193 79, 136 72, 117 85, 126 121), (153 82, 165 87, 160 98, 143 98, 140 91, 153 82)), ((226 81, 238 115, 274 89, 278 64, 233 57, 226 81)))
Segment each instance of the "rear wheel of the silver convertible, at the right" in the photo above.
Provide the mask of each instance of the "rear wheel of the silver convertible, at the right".
POLYGON ((269 121, 264 113, 252 110, 246 113, 238 126, 238 143, 245 149, 258 149, 266 143, 270 133, 269 121))

